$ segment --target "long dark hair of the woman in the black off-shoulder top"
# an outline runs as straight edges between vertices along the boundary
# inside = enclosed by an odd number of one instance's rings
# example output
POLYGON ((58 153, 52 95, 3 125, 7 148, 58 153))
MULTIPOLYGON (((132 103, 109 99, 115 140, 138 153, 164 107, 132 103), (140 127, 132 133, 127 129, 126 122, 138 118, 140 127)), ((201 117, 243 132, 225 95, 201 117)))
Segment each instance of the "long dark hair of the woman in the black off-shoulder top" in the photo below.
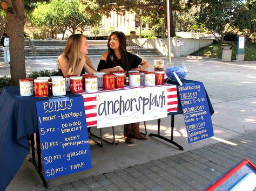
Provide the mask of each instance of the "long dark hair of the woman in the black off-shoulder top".
POLYGON ((127 60, 127 56, 126 56, 126 37, 125 37, 125 34, 121 31, 114 31, 110 34, 110 37, 109 37, 109 41, 107 41, 107 47, 109 48, 109 56, 107 56, 107 59, 108 58, 111 58, 111 60, 116 63, 117 61, 117 57, 116 55, 114 54, 114 51, 113 49, 110 48, 110 39, 111 39, 111 36, 113 34, 116 34, 118 40, 119 40, 119 51, 121 53, 121 63, 123 66, 121 66, 123 69, 125 70, 129 70, 129 65, 128 65, 128 60, 127 60))

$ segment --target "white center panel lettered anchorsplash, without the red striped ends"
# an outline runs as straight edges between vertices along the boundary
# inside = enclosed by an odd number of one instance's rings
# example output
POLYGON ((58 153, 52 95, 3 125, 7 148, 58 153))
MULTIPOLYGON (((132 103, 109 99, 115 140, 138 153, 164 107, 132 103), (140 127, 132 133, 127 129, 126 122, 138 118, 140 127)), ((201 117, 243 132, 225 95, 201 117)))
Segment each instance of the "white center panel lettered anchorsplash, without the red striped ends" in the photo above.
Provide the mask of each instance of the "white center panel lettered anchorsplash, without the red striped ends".
POLYGON ((97 96, 98 128, 167 117, 167 87, 126 89, 97 96))

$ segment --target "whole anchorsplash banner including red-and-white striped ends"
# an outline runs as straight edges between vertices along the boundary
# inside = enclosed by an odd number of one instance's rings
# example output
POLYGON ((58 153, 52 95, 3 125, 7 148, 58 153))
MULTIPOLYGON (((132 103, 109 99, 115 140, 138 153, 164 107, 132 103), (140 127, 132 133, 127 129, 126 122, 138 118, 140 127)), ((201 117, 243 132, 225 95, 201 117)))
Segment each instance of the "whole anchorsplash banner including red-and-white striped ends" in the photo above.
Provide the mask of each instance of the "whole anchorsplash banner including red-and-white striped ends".
POLYGON ((178 106, 176 85, 83 93, 87 126, 106 128, 167 117, 178 106))

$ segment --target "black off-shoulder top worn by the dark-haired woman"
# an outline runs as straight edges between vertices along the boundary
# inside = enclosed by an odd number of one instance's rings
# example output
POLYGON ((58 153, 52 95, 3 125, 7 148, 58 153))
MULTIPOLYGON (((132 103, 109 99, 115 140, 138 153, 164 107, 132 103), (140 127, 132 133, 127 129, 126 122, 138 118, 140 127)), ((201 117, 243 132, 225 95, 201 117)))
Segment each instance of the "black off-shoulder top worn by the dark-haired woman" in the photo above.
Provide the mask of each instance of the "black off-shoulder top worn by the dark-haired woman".
MULTIPOLYGON (((130 52, 126 52, 126 56, 127 56, 127 60, 128 60, 128 64, 129 64, 129 69, 137 68, 139 66, 140 62, 142 62, 142 59, 139 58, 139 56, 132 54, 130 52)), ((121 63, 121 59, 117 60, 116 63, 114 63, 110 58, 108 58, 107 61, 100 60, 97 71, 99 72, 102 69, 113 68, 116 66, 120 66, 123 69, 125 69, 123 64, 121 63)))

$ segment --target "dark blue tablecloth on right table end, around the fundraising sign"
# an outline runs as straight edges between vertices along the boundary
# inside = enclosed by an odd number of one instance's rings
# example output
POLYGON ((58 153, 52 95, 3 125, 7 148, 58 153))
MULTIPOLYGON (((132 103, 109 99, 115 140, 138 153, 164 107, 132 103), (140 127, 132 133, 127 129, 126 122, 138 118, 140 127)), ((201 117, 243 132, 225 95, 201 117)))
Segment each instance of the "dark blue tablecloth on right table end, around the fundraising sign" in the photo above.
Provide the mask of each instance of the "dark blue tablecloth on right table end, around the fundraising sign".
MULTIPOLYGON (((186 79, 181 80, 181 82, 182 82, 183 84, 198 83, 198 81, 186 80, 186 79)), ((169 79, 169 80, 167 80, 167 83, 176 84, 177 88, 179 87, 179 83, 178 83, 177 81, 173 81, 173 80, 170 80, 170 79, 169 79)), ((210 109, 210 114, 212 115, 212 114, 214 114, 214 109, 213 109, 213 107, 212 107, 212 103, 211 103, 211 101, 210 101, 210 98, 209 98, 209 96, 208 96, 207 91, 206 91, 205 88, 204 88, 204 90, 205 90, 205 94, 206 94, 206 98, 207 98, 207 102, 208 102, 208 107, 209 107, 209 109, 210 109)), ((179 98, 179 91, 178 91, 178 90, 177 90, 177 95, 178 95, 178 111, 177 111, 177 112, 169 112, 168 115, 183 114, 183 110, 182 110, 181 104, 180 104, 180 98, 179 98)))

